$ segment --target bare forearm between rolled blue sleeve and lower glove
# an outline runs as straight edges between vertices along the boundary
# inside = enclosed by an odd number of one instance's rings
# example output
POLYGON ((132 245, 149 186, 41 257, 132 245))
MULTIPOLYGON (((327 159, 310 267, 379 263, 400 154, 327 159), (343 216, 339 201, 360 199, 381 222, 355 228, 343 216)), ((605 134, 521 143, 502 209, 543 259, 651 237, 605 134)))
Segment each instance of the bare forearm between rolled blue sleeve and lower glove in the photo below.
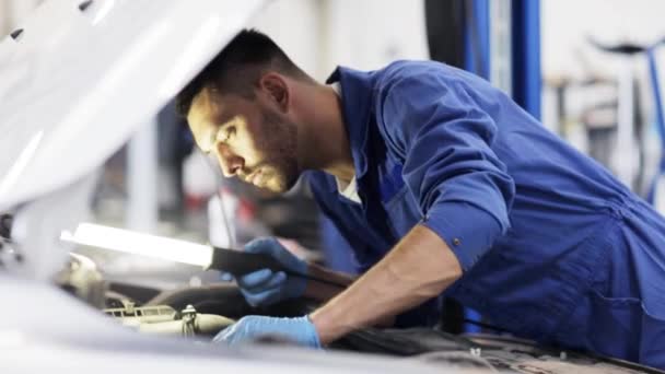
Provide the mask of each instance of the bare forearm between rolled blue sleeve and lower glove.
POLYGON ((310 317, 322 343, 439 295, 462 276, 447 244, 418 225, 390 253, 310 317))

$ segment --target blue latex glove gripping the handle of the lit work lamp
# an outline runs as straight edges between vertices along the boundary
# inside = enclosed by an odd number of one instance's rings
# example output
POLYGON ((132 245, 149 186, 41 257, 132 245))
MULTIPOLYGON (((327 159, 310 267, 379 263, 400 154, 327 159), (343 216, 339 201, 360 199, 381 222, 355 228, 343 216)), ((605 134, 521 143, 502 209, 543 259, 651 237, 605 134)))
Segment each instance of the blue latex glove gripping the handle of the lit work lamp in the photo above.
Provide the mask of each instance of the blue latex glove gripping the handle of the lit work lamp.
MULTIPOLYGON (((295 257, 275 237, 254 239, 245 245, 245 252, 272 256, 287 269, 307 274, 307 262, 295 257)), ((222 273, 222 280, 230 281, 230 273, 222 273)), ((305 293, 307 281, 301 277, 289 277, 283 271, 261 269, 236 279, 241 292, 249 305, 270 305, 305 293)))

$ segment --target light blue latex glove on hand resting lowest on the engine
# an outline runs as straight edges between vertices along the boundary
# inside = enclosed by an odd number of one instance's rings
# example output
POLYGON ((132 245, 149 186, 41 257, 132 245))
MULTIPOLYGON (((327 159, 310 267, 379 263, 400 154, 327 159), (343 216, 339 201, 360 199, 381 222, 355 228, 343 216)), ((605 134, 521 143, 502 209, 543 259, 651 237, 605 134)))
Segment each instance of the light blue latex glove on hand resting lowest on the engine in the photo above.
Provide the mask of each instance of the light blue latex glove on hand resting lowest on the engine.
POLYGON ((212 341, 234 346, 261 336, 285 338, 300 346, 320 348, 316 328, 307 316, 298 318, 246 316, 223 329, 212 341))

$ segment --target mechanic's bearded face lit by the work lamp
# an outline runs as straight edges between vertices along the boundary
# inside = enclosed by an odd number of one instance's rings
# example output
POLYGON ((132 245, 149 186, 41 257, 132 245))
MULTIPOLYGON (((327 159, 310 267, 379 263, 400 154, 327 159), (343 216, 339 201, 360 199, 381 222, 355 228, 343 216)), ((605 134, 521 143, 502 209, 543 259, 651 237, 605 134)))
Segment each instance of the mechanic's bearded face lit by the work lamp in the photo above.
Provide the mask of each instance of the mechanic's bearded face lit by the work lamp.
POLYGON ((224 176, 283 192, 300 174, 298 129, 271 106, 260 94, 247 100, 205 89, 195 97, 187 121, 198 147, 217 157, 224 176))

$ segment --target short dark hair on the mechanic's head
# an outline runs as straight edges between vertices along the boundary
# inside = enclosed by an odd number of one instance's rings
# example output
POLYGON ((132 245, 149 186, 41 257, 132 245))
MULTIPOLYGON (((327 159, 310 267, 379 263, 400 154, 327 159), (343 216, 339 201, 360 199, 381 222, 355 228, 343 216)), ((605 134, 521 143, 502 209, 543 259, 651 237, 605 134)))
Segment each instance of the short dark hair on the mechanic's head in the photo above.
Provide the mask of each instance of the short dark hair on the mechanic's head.
POLYGON ((194 97, 206 87, 254 97, 261 74, 273 69, 298 79, 311 79, 266 34, 242 30, 176 97, 177 113, 186 117, 194 97))

